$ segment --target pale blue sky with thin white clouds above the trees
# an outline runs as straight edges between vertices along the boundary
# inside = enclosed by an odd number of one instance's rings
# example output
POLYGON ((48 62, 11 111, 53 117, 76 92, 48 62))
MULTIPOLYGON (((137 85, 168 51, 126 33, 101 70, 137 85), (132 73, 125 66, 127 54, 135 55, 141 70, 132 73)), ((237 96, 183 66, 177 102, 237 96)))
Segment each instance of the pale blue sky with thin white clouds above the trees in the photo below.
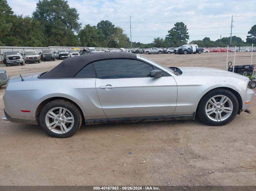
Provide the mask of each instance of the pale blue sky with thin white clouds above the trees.
MULTIPOLYGON (((15 14, 32 15, 38 0, 7 0, 15 14)), ((80 14, 82 27, 111 21, 123 28, 134 42, 151 43, 154 37, 165 37, 176 22, 188 28, 189 42, 210 37, 229 37, 233 15, 232 36, 246 40, 256 24, 255 0, 68 0, 80 14), (131 34, 130 34, 131 16, 131 34)))

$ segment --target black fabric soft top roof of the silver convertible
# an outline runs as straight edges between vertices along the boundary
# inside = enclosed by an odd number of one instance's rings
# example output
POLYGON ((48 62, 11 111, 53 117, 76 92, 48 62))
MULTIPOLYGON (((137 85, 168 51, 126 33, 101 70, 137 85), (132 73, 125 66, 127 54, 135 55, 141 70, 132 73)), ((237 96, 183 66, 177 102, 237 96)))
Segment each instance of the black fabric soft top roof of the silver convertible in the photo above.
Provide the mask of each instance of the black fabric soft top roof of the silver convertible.
POLYGON ((103 60, 103 59, 136 59, 136 54, 132 53, 94 53, 84 54, 81 56, 70 57, 62 61, 55 68, 52 68, 49 72, 45 72, 40 75, 39 78, 72 78, 77 72, 84 68, 87 64, 103 60))

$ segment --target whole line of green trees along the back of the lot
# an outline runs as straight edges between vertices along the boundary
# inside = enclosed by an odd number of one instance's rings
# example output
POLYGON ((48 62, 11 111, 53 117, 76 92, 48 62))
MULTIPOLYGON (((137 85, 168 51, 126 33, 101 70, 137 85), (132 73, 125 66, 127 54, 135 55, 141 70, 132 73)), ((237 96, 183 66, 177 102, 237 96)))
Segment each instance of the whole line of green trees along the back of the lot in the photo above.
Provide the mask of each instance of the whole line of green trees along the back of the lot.
MULTIPOLYGON (((65 0, 39 0, 32 17, 16 15, 6 0, 0 0, 0 46, 84 46, 130 47, 131 41, 121 27, 102 20, 96 26, 82 27, 77 9, 65 0)), ((233 36, 231 46, 256 44, 256 25, 248 31, 246 42, 233 36)), ((177 22, 165 38, 154 38, 152 43, 132 42, 132 47, 178 47, 188 43, 187 26, 177 22)), ((212 41, 209 37, 190 43, 202 47, 229 45, 230 37, 212 41)))

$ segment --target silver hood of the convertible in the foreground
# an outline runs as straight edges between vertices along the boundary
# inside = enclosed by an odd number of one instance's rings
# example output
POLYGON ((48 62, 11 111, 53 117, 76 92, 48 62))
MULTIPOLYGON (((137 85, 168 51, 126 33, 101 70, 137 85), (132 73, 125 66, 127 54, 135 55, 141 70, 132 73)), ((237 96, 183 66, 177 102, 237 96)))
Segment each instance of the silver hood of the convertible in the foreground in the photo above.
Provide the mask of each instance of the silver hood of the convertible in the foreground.
POLYGON ((248 81, 248 78, 245 76, 216 68, 179 67, 179 69, 182 71, 181 76, 222 76, 248 81))

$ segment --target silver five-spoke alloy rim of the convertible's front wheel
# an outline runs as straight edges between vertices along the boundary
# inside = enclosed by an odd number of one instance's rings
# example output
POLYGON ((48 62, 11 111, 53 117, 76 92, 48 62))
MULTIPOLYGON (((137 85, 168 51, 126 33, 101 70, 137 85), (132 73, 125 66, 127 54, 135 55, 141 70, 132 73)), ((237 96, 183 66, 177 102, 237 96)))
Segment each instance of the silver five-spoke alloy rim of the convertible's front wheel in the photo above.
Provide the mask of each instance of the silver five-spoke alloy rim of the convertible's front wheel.
POLYGON ((211 97, 205 105, 206 116, 212 121, 224 121, 231 116, 233 111, 232 101, 224 95, 211 97))

